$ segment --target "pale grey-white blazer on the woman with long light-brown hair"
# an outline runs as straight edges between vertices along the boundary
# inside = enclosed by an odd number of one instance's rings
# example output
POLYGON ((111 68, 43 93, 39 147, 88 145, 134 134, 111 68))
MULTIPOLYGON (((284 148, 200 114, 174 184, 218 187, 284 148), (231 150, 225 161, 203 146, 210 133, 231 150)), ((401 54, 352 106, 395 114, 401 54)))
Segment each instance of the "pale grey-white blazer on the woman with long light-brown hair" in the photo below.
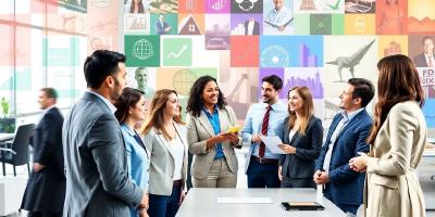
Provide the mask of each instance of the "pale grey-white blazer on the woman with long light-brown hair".
MULTIPOLYGON (((184 158, 182 167, 183 189, 187 177, 187 143, 186 128, 174 124, 177 136, 182 139, 184 145, 184 158)), ((172 194, 173 177, 175 169, 174 154, 164 136, 152 128, 144 136, 144 143, 150 153, 149 171, 149 193, 157 195, 172 194)))

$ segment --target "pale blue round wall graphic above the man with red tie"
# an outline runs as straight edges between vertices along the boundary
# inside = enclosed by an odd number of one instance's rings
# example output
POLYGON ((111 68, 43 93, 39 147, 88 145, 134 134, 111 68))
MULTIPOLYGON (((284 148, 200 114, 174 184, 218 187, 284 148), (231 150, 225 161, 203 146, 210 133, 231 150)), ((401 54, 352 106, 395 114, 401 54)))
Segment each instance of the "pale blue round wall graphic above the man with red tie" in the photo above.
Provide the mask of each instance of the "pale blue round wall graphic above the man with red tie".
POLYGON ((269 46, 261 52, 261 66, 263 67, 287 67, 288 53, 281 46, 269 46))

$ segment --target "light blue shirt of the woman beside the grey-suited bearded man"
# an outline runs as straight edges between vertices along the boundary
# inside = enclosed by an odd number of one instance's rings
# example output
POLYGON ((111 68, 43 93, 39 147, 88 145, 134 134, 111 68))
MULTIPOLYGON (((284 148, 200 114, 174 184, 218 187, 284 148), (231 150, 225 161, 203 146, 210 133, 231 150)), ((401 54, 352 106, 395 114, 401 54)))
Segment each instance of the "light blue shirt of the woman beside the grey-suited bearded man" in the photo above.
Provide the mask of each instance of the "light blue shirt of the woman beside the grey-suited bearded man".
MULTIPOLYGON (((149 156, 140 137, 126 124, 121 124, 121 130, 127 151, 128 177, 145 192, 149 187, 149 156), (135 139, 135 136, 138 139, 135 139), (140 141, 140 143, 139 143, 140 141)), ((137 209, 130 208, 132 217, 137 217, 137 209)))

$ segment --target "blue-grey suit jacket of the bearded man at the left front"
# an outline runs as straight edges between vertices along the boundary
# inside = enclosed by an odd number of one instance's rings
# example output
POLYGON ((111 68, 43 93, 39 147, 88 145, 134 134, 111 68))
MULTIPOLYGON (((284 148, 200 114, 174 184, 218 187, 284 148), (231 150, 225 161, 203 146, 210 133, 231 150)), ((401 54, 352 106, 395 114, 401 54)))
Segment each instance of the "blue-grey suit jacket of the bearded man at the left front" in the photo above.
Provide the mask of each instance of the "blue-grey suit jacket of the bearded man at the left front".
POLYGON ((128 178, 121 127, 108 105, 86 92, 63 124, 64 217, 129 216, 142 190, 128 178))

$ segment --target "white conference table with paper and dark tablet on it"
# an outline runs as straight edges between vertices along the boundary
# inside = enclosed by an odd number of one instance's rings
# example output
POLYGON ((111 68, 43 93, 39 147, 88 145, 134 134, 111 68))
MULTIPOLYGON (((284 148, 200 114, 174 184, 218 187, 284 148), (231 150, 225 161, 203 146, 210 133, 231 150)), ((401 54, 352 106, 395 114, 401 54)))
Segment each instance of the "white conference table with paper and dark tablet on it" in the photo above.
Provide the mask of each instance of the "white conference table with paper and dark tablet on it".
POLYGON ((323 197, 320 202, 324 210, 284 210, 282 202, 313 202, 316 201, 314 189, 198 189, 191 188, 176 216, 207 217, 346 217, 346 214, 331 201, 323 197), (217 197, 270 197, 269 204, 220 204, 217 197))

